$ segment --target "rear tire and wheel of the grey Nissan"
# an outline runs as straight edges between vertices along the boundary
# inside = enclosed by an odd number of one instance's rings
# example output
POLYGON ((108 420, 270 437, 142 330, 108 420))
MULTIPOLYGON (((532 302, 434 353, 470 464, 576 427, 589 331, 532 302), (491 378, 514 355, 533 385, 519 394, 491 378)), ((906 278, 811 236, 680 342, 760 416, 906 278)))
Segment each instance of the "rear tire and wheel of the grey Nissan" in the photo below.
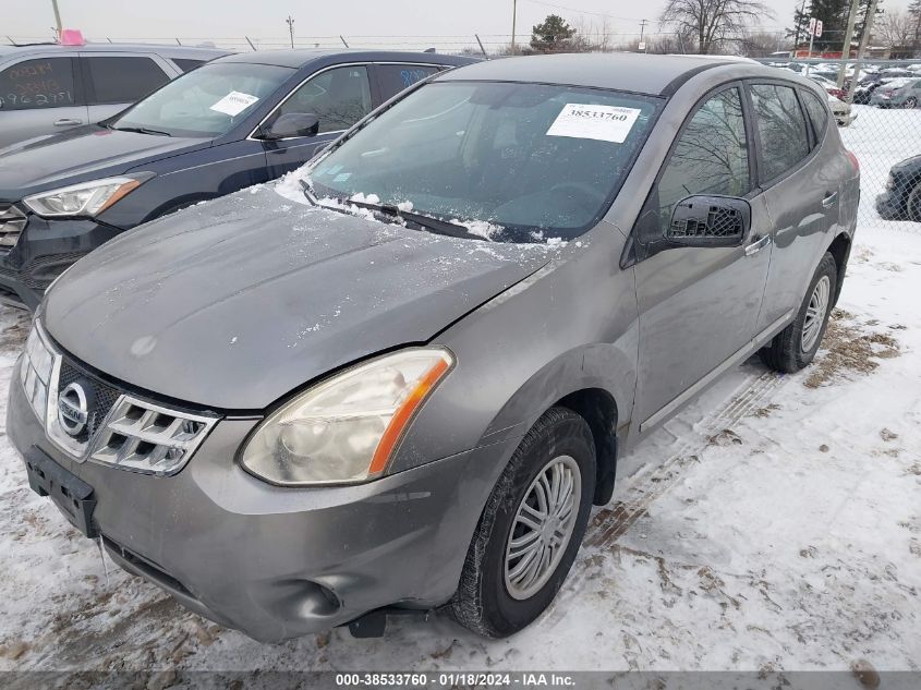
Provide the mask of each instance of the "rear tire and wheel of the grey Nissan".
POLYGON ((805 298, 803 298, 796 319, 774 336, 774 339, 759 352, 767 366, 778 372, 792 374, 812 362, 819 351, 819 346, 822 344, 822 338, 825 336, 825 327, 828 325, 828 315, 832 313, 837 282, 838 265, 835 263, 835 257, 825 252, 822 261, 819 262, 815 275, 809 282, 809 290, 805 291, 805 298), (820 283, 823 283, 822 288, 819 287, 820 283), (825 304, 822 311, 824 313, 816 318, 811 308, 817 306, 817 304, 813 304, 813 298, 821 301, 823 293, 825 304), (812 318, 808 318, 811 314, 813 314, 812 318), (810 327, 807 331, 808 326, 810 327))

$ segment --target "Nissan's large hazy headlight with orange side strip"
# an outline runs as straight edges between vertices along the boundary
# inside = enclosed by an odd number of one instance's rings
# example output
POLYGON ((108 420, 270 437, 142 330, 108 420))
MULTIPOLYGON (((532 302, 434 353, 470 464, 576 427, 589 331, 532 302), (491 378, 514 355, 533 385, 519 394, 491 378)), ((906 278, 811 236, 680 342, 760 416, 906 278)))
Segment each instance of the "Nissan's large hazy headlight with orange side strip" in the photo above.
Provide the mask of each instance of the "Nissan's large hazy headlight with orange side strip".
POLYGON ((241 462, 256 476, 286 486, 380 476, 453 363, 448 350, 414 348, 342 372, 266 419, 241 462))

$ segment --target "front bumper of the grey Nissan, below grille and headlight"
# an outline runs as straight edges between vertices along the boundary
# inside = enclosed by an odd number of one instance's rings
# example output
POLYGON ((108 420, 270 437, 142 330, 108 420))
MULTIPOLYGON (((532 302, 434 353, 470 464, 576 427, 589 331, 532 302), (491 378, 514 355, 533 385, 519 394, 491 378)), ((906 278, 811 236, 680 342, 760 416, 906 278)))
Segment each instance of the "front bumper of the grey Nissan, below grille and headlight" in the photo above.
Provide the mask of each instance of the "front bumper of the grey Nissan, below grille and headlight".
POLYGON ((359 486, 282 488, 244 472, 237 449, 256 420, 217 424, 169 477, 57 450, 19 373, 7 428, 94 488, 93 519, 113 559, 181 603, 250 637, 277 642, 384 606, 427 609, 457 589, 495 468, 517 441, 438 460, 359 486))

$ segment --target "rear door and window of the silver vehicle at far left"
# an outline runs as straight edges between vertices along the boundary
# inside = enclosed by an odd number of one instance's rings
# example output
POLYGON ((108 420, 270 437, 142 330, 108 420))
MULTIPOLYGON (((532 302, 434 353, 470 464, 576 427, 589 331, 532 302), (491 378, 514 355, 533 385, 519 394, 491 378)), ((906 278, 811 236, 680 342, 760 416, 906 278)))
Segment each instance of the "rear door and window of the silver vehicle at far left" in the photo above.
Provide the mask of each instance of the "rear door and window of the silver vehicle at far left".
POLYGON ((118 114, 179 74, 175 68, 154 55, 85 52, 80 61, 90 122, 118 114))

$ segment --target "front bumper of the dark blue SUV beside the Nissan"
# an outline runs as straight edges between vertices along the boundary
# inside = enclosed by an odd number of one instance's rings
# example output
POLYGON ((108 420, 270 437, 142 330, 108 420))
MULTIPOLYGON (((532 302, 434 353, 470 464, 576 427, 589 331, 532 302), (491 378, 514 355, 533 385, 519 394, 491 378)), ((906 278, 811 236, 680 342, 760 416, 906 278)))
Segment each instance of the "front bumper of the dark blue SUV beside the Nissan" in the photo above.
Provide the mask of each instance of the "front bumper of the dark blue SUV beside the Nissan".
POLYGON ((54 278, 121 232, 96 220, 29 214, 16 245, 0 254, 0 302, 34 311, 54 278))

